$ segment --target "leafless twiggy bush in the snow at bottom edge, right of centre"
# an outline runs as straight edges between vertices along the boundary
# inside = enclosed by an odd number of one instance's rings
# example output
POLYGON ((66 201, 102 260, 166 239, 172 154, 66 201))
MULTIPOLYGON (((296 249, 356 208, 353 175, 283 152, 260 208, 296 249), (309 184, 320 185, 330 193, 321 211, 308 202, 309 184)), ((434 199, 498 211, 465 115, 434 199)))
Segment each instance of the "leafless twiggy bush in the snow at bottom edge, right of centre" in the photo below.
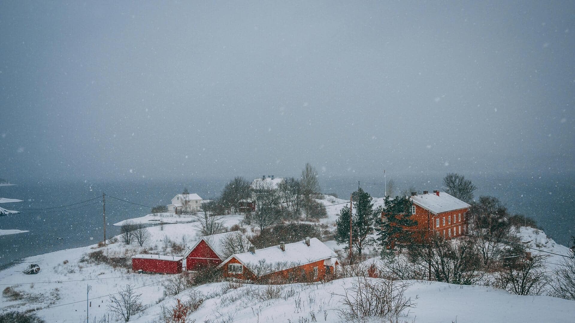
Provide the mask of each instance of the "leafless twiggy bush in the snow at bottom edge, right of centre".
POLYGON ((405 297, 409 287, 405 282, 358 277, 342 296, 342 306, 336 309, 347 321, 365 321, 371 316, 393 320, 404 316, 405 310, 415 307, 411 298, 405 297))

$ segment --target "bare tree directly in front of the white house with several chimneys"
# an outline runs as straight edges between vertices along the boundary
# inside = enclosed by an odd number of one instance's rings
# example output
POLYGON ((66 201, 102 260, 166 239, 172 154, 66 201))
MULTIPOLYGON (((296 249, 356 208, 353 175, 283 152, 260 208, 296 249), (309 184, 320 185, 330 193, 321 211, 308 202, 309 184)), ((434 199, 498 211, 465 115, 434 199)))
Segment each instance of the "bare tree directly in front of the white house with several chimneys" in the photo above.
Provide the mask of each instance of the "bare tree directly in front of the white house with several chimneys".
POLYGON ((271 187, 270 183, 263 181, 254 184, 252 189, 255 211, 246 214, 246 222, 258 226, 260 230, 279 222, 283 215, 279 207, 281 203, 279 191, 271 187))

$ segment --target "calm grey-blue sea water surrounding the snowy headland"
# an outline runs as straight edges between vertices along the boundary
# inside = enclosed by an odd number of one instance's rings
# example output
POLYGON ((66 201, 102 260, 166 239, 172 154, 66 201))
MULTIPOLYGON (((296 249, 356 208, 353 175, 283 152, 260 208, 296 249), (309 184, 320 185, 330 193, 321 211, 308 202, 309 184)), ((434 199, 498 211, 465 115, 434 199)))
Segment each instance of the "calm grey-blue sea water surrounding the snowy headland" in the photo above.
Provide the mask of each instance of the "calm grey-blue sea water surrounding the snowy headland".
MULTIPOLYGON (((439 189, 444 174, 393 176, 400 189, 408 184, 418 190, 439 189)), ((469 175, 468 175, 469 176, 469 175)), ((388 176, 388 179, 392 176, 388 176)), ((570 210, 575 199, 575 176, 540 174, 479 174, 469 176, 478 187, 477 195, 494 195, 513 213, 535 218, 545 232, 558 243, 566 244, 575 234, 575 217, 570 210)), ((320 178, 325 193, 337 193, 347 198, 357 187, 354 178, 320 178)), ((384 195, 383 178, 359 179, 363 189, 375 197, 384 195)), ((5 204, 8 209, 35 209, 68 205, 107 195, 128 199, 144 205, 168 204, 170 199, 187 187, 203 198, 216 196, 226 179, 198 180, 194 183, 175 182, 34 182, 0 187, 0 196, 25 202, 5 204)), ((69 206, 64 209, 21 210, 22 214, 0 218, 0 228, 30 230, 27 233, 0 237, 0 266, 23 257, 61 249, 94 244, 102 239, 101 199, 69 206), (94 203, 89 205, 90 203, 94 203), (87 206, 85 206, 87 205, 87 206), (79 207, 83 206, 83 207, 79 207), (63 239, 57 239, 62 237, 63 239)), ((119 233, 112 224, 126 218, 144 216, 145 207, 106 198, 106 236, 119 233)))

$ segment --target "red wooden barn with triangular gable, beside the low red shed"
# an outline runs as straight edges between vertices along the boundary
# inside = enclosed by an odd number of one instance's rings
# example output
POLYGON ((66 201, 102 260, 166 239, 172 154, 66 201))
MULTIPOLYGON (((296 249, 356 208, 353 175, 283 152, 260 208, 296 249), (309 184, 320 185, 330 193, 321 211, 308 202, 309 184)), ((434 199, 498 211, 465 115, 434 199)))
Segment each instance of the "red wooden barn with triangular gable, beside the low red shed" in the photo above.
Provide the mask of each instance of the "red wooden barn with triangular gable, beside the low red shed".
MULTIPOLYGON (((185 258, 184 267, 186 270, 198 270, 207 266, 218 266, 229 256, 225 251, 225 241, 243 240, 248 242, 247 237, 241 231, 225 232, 205 236, 197 241, 183 256, 185 258)), ((244 248, 247 250, 247 245, 244 248)))

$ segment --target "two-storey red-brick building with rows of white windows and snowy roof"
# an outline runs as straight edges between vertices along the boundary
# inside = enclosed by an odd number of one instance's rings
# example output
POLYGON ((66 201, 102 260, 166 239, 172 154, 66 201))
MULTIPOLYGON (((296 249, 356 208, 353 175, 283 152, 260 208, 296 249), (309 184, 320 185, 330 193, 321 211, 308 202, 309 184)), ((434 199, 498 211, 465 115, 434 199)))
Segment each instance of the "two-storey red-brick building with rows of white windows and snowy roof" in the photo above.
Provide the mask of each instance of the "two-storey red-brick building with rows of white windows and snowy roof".
POLYGON ((410 197, 411 218, 417 221, 415 229, 427 237, 428 233, 439 234, 445 239, 462 236, 467 233, 467 211, 471 205, 445 192, 434 191, 410 197))

